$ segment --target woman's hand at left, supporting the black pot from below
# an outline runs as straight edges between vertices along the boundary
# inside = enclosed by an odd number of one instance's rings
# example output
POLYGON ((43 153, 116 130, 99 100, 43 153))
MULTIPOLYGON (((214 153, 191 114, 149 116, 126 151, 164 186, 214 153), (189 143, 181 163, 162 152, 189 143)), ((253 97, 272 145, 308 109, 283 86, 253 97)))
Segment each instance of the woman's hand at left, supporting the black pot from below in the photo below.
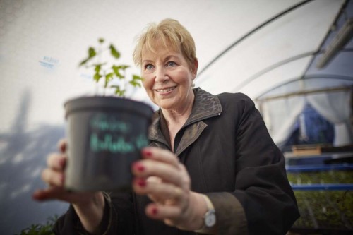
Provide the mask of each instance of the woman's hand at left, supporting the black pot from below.
POLYGON ((67 162, 66 140, 59 141, 59 152, 47 158, 47 168, 42 171, 42 180, 47 188, 33 193, 35 200, 62 200, 71 203, 76 210, 83 227, 90 233, 99 229, 104 212, 104 196, 102 192, 69 192, 64 188, 64 170, 67 162))

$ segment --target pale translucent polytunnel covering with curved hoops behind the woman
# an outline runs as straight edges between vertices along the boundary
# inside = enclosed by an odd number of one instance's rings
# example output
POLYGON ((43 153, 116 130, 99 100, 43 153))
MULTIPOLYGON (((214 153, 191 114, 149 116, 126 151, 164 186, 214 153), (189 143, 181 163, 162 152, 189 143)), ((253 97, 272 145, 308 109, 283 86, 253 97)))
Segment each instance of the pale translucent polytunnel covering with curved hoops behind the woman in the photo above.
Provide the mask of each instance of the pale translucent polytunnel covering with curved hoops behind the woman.
MULTIPOLYGON (((66 211, 31 194, 44 187, 46 155, 65 136, 64 102, 100 92, 78 68, 87 48, 104 37, 132 66, 136 36, 164 18, 196 42, 196 87, 251 97, 281 150, 291 151, 299 129, 301 139, 315 129, 301 128, 312 109, 331 128, 323 144, 352 151, 351 0, 0 0, 0 234, 66 211)), ((142 90, 128 95, 151 104, 142 90)))

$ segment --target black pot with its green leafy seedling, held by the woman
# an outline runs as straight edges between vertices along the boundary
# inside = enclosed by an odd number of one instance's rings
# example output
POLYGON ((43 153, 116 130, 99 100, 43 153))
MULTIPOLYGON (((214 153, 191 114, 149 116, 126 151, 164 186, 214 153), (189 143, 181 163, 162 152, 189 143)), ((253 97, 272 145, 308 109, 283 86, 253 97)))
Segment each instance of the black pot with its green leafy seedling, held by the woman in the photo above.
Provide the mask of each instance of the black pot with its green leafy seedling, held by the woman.
POLYGON ((88 48, 80 66, 92 69, 93 80, 103 82, 104 93, 112 88, 115 95, 78 97, 64 104, 68 135, 65 187, 70 191, 129 189, 131 164, 148 145, 152 108, 124 97, 129 87, 140 87, 142 78, 127 78, 127 65, 109 64, 119 60, 120 53, 113 44, 104 47, 104 39, 98 42, 97 48, 88 48))

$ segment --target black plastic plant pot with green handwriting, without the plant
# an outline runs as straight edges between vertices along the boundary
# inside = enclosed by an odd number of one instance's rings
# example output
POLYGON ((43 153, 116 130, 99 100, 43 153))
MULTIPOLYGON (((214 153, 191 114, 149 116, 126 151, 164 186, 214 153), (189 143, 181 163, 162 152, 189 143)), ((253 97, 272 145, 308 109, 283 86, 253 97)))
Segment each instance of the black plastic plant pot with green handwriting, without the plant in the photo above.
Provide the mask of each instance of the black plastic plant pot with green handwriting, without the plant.
POLYGON ((68 191, 131 190, 131 164, 148 145, 152 108, 119 97, 79 97, 64 104, 68 191))

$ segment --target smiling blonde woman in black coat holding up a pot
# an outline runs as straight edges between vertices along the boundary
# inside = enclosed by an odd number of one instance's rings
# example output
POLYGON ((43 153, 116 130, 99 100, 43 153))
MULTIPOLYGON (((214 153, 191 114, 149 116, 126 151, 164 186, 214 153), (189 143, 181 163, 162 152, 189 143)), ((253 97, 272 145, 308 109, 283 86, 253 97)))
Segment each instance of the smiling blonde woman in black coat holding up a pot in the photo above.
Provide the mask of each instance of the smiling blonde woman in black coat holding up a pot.
POLYGON ((160 107, 132 166, 133 193, 67 193, 65 148, 48 158, 37 200, 71 203, 56 234, 285 234, 299 213, 282 153, 243 94, 193 89, 193 38, 177 20, 140 35, 133 54, 160 107))

